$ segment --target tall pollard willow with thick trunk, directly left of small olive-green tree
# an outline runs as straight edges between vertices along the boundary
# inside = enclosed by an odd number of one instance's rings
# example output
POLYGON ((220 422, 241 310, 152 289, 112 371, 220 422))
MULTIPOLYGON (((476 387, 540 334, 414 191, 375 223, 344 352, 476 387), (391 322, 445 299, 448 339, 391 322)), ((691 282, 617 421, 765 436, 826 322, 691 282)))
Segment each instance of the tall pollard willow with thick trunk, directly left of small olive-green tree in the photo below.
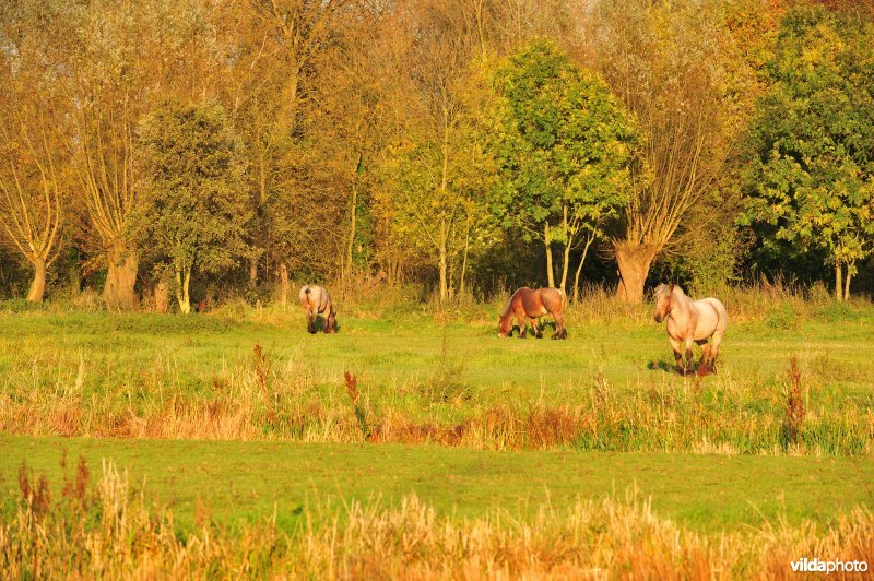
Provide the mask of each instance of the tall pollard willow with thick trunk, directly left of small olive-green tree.
POLYGON ((222 67, 205 12, 197 2, 95 0, 70 39, 78 238, 86 270, 107 269, 104 297, 113 308, 137 301, 140 252, 128 224, 142 181, 137 127, 162 95, 198 94, 222 67))

